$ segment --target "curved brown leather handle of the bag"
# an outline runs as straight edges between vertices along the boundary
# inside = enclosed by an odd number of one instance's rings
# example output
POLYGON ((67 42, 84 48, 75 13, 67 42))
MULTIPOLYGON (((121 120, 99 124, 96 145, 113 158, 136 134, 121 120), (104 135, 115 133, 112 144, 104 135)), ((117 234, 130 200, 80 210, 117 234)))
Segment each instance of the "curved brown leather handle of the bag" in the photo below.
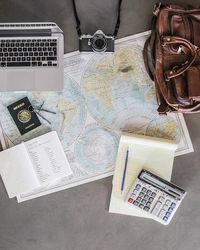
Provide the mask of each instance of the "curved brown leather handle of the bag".
POLYGON ((194 61, 198 55, 197 52, 199 50, 199 47, 197 47, 196 45, 193 45, 190 41, 188 41, 187 39, 184 39, 182 37, 163 36, 162 37, 162 46, 166 46, 169 44, 185 45, 191 52, 191 58, 183 64, 183 67, 180 67, 180 68, 177 67, 177 68, 174 68, 172 70, 166 71, 164 73, 166 81, 169 81, 171 78, 174 78, 174 77, 177 77, 177 76, 183 74, 194 63, 194 61))

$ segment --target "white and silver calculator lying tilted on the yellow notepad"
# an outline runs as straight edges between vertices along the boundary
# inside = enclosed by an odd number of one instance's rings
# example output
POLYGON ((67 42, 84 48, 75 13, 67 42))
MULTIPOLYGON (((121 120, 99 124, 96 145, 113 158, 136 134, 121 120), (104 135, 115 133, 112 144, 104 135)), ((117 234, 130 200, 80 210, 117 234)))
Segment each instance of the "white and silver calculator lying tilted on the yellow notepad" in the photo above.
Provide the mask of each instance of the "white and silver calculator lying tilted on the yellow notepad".
POLYGON ((185 195, 182 188, 143 169, 129 190, 126 202, 168 225, 185 195))

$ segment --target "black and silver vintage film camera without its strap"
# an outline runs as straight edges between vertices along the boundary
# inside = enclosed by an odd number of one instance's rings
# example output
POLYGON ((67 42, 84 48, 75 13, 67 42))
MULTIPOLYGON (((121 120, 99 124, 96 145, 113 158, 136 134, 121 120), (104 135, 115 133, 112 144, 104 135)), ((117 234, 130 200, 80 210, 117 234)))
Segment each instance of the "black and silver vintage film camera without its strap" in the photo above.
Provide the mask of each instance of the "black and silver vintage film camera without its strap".
POLYGON ((81 52, 114 52, 114 46, 114 36, 106 36, 101 30, 97 30, 93 36, 81 35, 79 38, 81 52))

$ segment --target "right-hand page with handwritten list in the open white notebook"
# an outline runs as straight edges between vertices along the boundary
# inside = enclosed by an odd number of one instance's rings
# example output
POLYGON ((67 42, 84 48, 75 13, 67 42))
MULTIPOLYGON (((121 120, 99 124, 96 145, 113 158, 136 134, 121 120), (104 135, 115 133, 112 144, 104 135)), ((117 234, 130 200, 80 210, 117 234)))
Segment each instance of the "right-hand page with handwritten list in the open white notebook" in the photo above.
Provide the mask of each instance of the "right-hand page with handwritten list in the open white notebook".
POLYGON ((41 185, 72 174, 55 131, 25 142, 41 185))

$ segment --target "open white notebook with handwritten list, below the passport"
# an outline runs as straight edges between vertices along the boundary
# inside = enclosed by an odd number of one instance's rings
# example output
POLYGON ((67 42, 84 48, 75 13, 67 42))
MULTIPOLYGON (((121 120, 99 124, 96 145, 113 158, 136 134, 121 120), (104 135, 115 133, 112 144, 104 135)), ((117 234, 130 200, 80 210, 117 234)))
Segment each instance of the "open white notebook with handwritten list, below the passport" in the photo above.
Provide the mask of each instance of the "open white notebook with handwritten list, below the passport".
POLYGON ((0 152, 0 175, 9 198, 71 174, 55 131, 0 152))

